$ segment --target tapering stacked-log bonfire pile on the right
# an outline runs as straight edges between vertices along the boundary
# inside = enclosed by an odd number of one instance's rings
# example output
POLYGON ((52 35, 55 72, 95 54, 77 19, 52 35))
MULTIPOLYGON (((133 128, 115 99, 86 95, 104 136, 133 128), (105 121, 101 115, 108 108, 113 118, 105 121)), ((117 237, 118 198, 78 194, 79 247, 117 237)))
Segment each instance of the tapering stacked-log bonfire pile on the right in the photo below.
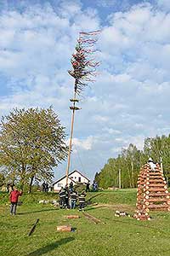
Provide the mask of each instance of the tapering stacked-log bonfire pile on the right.
POLYGON ((140 169, 136 206, 134 218, 139 220, 150 219, 150 211, 170 211, 167 183, 159 164, 155 170, 149 164, 140 169))

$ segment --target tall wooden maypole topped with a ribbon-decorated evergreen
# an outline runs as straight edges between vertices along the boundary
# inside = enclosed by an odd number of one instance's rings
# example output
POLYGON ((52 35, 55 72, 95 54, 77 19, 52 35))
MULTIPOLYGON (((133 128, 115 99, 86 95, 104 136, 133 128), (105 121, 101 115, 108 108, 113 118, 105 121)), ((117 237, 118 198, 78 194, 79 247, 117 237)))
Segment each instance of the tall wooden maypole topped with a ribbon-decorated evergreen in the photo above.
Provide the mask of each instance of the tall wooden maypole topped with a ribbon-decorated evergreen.
POLYGON ((77 96, 81 95, 82 90, 89 82, 94 82, 93 77, 97 75, 96 67, 99 66, 99 62, 92 59, 92 54, 94 53, 94 44, 97 42, 97 36, 100 31, 94 32, 80 32, 79 38, 77 39, 77 45, 75 47, 75 53, 71 58, 72 70, 68 73, 75 79, 74 85, 74 95, 70 100, 72 106, 70 107, 72 111, 71 115, 71 137, 69 142, 69 152, 68 152, 68 162, 66 168, 66 185, 68 184, 68 176, 71 165, 71 148, 72 148, 72 137, 73 137, 73 127, 75 112, 80 108, 77 108, 76 103, 79 102, 77 96))

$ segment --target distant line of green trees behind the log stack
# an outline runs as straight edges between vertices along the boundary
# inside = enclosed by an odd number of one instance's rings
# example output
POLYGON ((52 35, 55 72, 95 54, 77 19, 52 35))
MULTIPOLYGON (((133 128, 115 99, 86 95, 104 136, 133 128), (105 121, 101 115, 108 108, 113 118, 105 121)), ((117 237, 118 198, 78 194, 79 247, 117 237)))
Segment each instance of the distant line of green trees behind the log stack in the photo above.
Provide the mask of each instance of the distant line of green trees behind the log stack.
POLYGON ((149 159, 160 163, 162 160, 165 177, 170 177, 170 135, 161 137, 148 137, 144 140, 143 150, 129 144, 128 148, 122 148, 122 153, 116 158, 110 158, 101 171, 95 174, 95 181, 99 187, 119 186, 119 172, 121 172, 122 188, 137 187, 137 179, 140 167, 149 159))

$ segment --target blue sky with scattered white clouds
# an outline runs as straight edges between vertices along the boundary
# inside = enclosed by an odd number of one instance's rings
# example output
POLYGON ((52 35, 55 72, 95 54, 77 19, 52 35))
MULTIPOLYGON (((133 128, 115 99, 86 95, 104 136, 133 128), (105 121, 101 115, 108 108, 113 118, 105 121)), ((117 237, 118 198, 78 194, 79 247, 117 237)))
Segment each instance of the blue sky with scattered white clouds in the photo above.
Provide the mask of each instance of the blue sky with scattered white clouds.
POLYGON ((74 81, 67 70, 78 32, 102 31, 100 74, 81 97, 71 171, 93 180, 129 143, 142 149, 145 137, 170 132, 169 0, 10 0, 0 9, 1 115, 53 105, 68 135, 74 81))

